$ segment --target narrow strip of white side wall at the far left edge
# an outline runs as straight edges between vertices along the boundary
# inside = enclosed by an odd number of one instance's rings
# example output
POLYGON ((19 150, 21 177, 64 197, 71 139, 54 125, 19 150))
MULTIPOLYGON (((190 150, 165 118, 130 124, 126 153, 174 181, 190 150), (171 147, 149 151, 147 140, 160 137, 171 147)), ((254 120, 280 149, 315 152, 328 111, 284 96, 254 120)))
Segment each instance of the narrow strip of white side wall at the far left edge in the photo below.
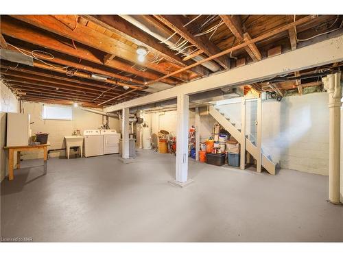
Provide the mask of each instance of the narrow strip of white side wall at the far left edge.
MULTIPOLYGON (((6 113, 19 112, 19 101, 11 90, 0 81, 0 180, 7 175, 7 151, 3 150, 6 142, 6 113)), ((16 158, 16 156, 14 156, 16 158)), ((16 163, 16 162, 14 162, 16 163)))

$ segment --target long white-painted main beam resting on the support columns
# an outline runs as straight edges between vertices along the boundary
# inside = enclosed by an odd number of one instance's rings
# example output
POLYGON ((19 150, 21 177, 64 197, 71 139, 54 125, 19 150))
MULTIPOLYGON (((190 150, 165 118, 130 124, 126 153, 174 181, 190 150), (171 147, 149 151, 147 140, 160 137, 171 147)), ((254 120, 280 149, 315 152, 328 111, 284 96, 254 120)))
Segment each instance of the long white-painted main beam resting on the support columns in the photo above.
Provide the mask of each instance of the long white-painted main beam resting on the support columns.
MULTIPOLYGON (((283 26, 283 29, 289 29, 288 25, 283 26)), ((283 29, 278 29, 278 31, 285 31, 283 29)), ((268 35, 270 35, 269 32, 268 35)), ((264 37, 265 36, 263 36, 263 38, 264 37)), ((115 112, 124 107, 132 108, 135 106, 143 106, 149 103, 173 99, 180 93, 193 95, 196 93, 222 88, 223 86, 251 84, 254 82, 259 82, 267 77, 274 77, 289 72, 331 64, 343 59, 342 49, 343 36, 336 36, 334 38, 314 43, 313 45, 309 45, 307 47, 296 49, 296 51, 288 51, 287 53, 283 53, 280 56, 275 56, 274 58, 265 58, 261 60, 261 62, 254 62, 246 66, 241 66, 237 69, 230 69, 229 71, 225 71, 223 73, 218 73, 203 79, 189 82, 183 86, 175 86, 174 88, 163 90, 161 92, 139 97, 131 101, 126 101, 124 103, 111 106, 110 108, 106 108, 106 112, 115 112), (316 52, 315 55, 313 54, 314 52, 316 52), (294 60, 296 60, 296 62, 294 60)), ((232 49, 230 48, 226 50, 225 53, 228 53, 229 51, 232 51, 232 49)))

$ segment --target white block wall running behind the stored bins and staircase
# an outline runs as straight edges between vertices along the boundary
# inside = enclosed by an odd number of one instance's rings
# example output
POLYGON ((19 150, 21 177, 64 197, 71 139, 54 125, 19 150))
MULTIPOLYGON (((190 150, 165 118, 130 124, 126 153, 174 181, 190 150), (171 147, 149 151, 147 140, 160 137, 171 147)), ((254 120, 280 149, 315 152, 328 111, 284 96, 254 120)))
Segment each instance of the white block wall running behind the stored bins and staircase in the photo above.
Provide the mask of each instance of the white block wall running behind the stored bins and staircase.
MULTIPOLYGON (((327 93, 285 97, 282 101, 262 103, 262 146, 265 154, 283 169, 329 175, 329 108, 327 93)), ((240 103, 228 104, 224 110, 241 123, 240 103)), ((159 117, 152 114, 152 131, 176 132, 176 111, 159 117)), ((189 126, 194 125, 194 112, 189 126)), ((246 134, 256 138, 257 101, 246 103, 246 134)), ((211 136, 214 119, 200 116, 200 140, 211 136)), ((343 171, 342 171, 343 173, 343 171)))

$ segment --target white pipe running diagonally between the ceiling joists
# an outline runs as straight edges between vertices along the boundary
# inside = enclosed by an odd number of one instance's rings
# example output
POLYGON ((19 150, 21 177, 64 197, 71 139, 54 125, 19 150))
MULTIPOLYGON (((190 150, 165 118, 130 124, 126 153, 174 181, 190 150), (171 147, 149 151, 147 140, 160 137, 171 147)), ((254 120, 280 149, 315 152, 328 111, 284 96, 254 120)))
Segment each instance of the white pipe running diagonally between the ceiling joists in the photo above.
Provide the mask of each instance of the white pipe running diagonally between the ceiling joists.
MULTIPOLYGON (((140 15, 134 15, 134 16, 133 15, 119 15, 119 16, 121 16, 121 18, 125 19, 126 21, 133 24, 134 26, 139 27, 139 29, 142 29, 143 32, 146 32, 147 34, 150 34, 151 36, 153 36, 154 38, 157 38, 161 42, 164 42, 169 47, 174 45, 175 42, 171 41, 173 39, 169 38, 170 35, 167 35, 165 33, 164 33, 165 35, 161 35, 161 33, 163 32, 160 32, 157 29, 155 29, 154 26, 147 24, 144 18, 141 17, 140 15), (169 38, 169 40, 167 40, 167 38, 169 38)), ((186 53, 186 52, 182 51, 181 53, 186 53)), ((202 56, 196 56, 192 59, 195 60, 196 62, 199 62, 200 60, 204 60, 202 56)), ((201 65, 213 72, 220 70, 220 66, 216 64, 215 62, 205 62, 201 65)))

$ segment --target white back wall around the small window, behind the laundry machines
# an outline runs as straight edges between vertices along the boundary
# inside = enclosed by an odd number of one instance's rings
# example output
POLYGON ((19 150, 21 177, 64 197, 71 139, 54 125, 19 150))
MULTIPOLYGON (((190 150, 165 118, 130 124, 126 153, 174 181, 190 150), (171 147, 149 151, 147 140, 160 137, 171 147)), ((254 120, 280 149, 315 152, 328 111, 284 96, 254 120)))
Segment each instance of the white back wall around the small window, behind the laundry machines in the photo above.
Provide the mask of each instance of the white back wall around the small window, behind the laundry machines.
MULTIPOLYGON (((102 115, 93 112, 86 112, 81 108, 73 108, 72 121, 58 121, 58 120, 43 120, 43 103, 24 102, 23 104, 25 113, 31 115, 32 134, 36 132, 49 133, 49 142, 51 146, 49 149, 64 148, 64 136, 71 136, 74 130, 80 130, 83 134, 84 130, 95 130, 102 125, 102 115)), ((106 121, 105 121, 106 122, 106 121)), ((110 128, 119 132, 119 120, 110 117, 110 128)), ((51 152, 50 157, 64 156, 65 151, 51 152)), ((43 152, 29 151, 25 153, 23 159, 43 158, 43 152)))

